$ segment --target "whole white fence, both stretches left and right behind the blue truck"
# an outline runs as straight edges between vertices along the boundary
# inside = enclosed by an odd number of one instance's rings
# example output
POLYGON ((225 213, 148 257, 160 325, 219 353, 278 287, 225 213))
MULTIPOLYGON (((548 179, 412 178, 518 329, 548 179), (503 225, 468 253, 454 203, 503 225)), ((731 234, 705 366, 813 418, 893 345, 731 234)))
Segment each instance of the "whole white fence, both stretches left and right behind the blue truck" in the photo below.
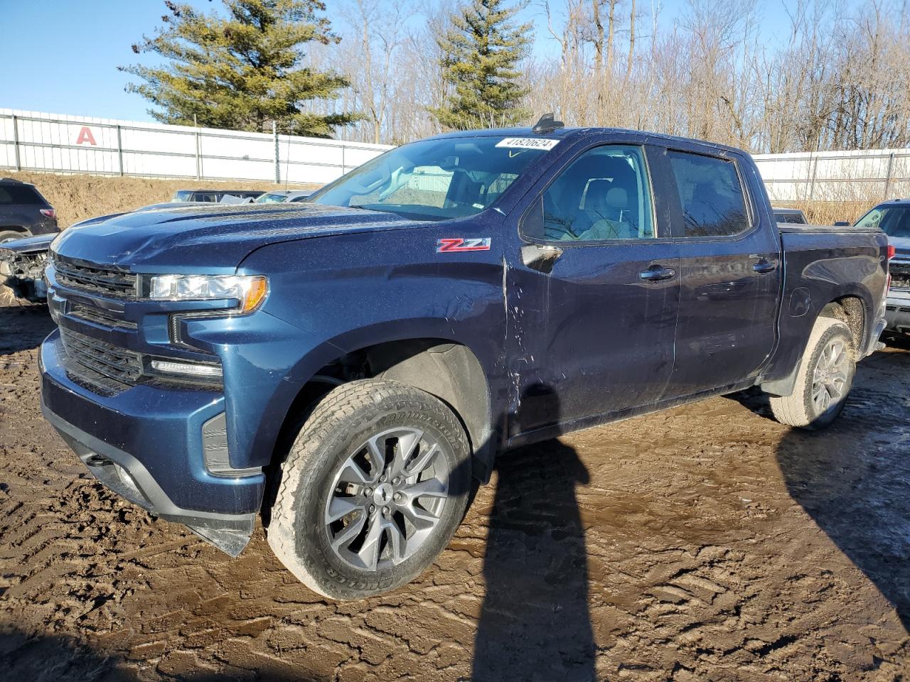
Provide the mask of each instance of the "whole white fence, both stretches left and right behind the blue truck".
MULTIPOLYGON (((390 148, 0 109, 0 167, 15 170, 322 185, 390 148)), ((764 154, 755 161, 775 202, 910 196, 910 149, 764 154)), ((427 188, 438 180, 430 175, 420 178, 427 188)))

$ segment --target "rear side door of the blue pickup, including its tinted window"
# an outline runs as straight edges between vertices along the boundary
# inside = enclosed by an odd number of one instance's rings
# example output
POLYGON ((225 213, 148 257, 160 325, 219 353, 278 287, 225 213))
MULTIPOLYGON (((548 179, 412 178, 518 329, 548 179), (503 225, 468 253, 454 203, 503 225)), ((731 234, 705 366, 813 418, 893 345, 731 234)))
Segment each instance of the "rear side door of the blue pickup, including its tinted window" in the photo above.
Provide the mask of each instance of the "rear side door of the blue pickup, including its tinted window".
POLYGON ((681 278, 669 398, 758 375, 774 346, 783 267, 772 217, 749 191, 750 166, 684 149, 662 159, 681 278))

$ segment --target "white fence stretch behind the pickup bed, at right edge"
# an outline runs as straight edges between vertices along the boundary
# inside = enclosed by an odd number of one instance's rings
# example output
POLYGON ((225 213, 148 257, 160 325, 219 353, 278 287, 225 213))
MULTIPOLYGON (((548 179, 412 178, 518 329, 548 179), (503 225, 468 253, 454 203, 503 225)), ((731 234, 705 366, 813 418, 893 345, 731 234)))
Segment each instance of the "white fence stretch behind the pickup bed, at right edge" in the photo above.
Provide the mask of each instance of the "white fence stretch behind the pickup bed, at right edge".
POLYGON ((910 149, 755 155, 774 202, 881 201, 910 196, 910 149))

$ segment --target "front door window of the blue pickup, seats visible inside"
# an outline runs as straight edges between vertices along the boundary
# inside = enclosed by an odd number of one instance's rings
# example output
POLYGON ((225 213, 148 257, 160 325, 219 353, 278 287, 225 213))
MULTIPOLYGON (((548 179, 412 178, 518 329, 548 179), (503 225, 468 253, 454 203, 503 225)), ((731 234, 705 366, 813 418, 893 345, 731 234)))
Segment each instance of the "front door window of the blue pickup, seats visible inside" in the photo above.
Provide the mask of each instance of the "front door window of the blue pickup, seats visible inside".
POLYGON ((543 193, 542 209, 526 221, 527 236, 554 242, 652 239, 651 183, 642 148, 591 149, 543 193))

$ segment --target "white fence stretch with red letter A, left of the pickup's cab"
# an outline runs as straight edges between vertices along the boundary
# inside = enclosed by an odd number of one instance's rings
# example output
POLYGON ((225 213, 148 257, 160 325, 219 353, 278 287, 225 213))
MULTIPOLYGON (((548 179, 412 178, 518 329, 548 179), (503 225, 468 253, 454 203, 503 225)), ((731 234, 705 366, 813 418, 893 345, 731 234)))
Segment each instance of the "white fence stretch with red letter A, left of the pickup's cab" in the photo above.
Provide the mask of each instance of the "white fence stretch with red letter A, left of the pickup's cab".
POLYGON ((0 167, 325 184, 389 145, 0 109, 0 167))

